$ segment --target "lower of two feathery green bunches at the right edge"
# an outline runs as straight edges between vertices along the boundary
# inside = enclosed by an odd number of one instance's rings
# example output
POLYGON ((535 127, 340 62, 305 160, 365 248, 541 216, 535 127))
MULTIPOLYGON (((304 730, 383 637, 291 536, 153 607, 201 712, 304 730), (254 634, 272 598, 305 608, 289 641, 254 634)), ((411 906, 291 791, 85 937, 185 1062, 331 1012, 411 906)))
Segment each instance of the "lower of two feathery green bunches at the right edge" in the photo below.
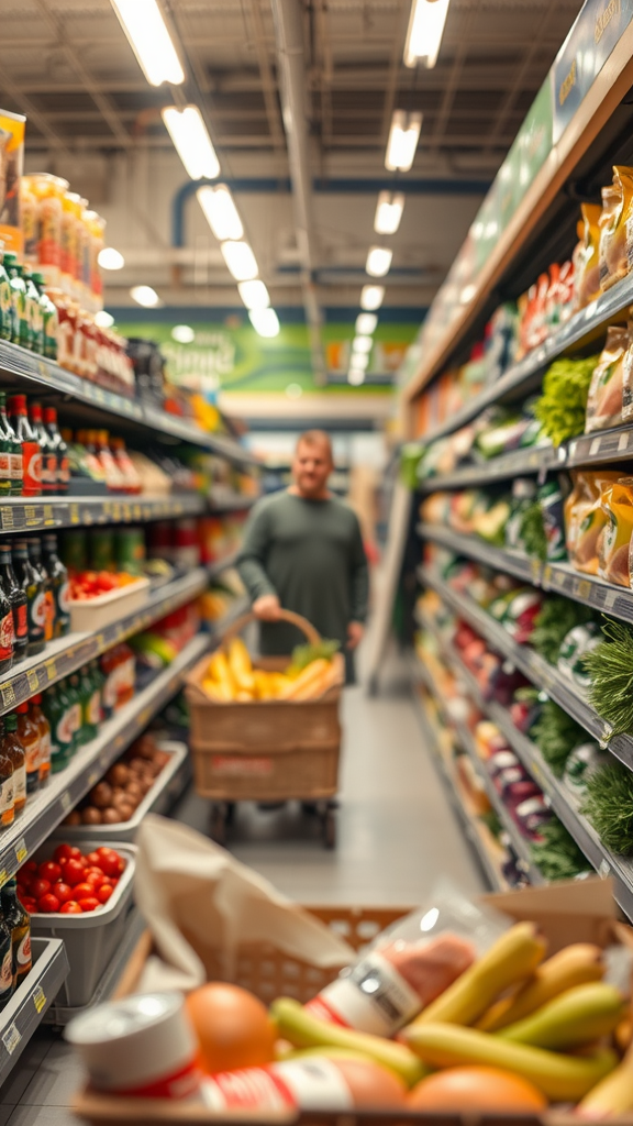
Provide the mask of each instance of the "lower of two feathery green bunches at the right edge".
POLYGON ((581 813, 612 852, 633 854, 633 772, 617 759, 589 775, 581 813))

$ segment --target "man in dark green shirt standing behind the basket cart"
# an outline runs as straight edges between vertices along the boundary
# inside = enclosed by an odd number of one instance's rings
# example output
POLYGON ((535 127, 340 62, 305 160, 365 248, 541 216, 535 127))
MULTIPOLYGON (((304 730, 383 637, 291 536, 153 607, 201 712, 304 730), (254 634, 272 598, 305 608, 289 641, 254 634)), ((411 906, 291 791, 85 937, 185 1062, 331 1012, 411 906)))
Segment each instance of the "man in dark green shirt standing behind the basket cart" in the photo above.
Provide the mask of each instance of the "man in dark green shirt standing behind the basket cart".
POLYGON ((328 435, 306 430, 296 444, 293 484, 252 511, 238 570, 261 623, 262 654, 289 654, 305 640, 279 622, 282 607, 294 610, 322 637, 340 642, 353 683, 353 652, 367 614, 367 560, 355 513, 328 489, 332 470, 328 435))

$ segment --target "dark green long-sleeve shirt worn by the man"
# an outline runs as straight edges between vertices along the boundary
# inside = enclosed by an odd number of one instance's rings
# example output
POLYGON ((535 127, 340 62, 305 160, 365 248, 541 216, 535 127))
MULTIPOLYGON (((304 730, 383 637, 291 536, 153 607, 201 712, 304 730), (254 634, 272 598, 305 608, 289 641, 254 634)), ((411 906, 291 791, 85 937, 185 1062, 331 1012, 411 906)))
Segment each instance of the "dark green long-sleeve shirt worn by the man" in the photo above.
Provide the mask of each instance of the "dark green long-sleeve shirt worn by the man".
MULTIPOLYGON (((251 601, 277 595, 323 637, 345 645, 350 622, 367 615, 368 572, 355 513, 337 498, 275 493, 255 507, 238 570, 251 601)), ((264 654, 291 653, 303 638, 286 623, 261 623, 264 654)))

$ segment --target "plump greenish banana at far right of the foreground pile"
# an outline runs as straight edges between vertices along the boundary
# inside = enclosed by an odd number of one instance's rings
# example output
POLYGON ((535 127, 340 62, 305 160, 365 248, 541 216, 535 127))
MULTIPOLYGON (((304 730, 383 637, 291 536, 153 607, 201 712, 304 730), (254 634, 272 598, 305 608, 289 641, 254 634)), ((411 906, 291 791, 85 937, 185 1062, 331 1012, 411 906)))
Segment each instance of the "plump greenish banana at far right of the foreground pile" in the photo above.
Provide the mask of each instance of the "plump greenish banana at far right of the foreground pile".
POLYGON ((608 1036, 626 1011, 622 993, 605 982, 577 985, 555 997, 525 1020, 508 1025, 494 1036, 541 1048, 580 1047, 608 1036))

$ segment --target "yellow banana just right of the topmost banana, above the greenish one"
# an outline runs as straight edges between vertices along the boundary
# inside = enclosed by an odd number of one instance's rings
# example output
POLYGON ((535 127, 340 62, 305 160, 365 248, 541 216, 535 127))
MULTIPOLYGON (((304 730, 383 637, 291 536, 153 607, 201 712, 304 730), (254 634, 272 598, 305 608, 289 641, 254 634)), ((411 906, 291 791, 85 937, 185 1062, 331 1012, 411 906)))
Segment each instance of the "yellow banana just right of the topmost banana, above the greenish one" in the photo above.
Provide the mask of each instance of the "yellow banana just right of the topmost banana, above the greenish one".
POLYGON ((538 966, 534 976, 519 986, 510 997, 496 1001, 484 1012, 476 1027, 483 1033, 496 1033, 499 1028, 523 1020, 536 1012, 552 998, 564 993, 574 985, 600 981, 605 973, 603 951, 591 942, 573 942, 538 966))

